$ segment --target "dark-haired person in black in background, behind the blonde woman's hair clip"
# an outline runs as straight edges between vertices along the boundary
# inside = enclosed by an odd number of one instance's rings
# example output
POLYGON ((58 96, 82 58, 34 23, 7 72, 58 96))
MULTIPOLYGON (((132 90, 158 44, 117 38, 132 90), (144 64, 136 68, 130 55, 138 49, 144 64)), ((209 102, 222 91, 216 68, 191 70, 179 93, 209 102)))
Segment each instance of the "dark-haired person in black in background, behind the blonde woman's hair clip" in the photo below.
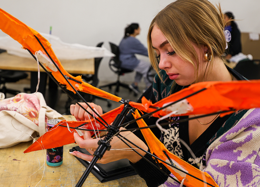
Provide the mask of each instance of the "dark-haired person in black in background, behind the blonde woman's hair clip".
POLYGON ((229 60, 232 56, 241 52, 241 34, 236 22, 234 22, 235 17, 232 12, 226 12, 224 19, 226 22, 225 30, 231 33, 231 41, 228 42, 228 48, 226 50, 226 59, 229 60))

